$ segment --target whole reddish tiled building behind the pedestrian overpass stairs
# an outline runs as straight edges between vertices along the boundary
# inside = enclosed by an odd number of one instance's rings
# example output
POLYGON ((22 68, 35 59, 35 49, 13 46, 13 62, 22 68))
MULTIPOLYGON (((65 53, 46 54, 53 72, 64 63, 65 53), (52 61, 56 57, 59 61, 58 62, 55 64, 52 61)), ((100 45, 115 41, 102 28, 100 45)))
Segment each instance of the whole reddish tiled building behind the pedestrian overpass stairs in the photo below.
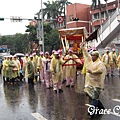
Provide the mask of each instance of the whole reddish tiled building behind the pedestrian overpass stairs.
MULTIPOLYGON (((101 11, 96 6, 96 9, 91 9, 91 5, 75 3, 67 6, 66 11, 66 27, 86 27, 88 33, 92 33, 100 25, 110 17, 120 5, 120 0, 115 0, 106 4, 101 4, 101 11), (107 8, 107 9, 106 9, 107 8), (108 10, 108 14, 107 14, 108 10), (72 18, 79 18, 78 21, 73 21, 72 18)), ((120 11, 120 10, 119 10, 120 11)), ((120 40, 120 34, 116 37, 115 44, 120 40)))

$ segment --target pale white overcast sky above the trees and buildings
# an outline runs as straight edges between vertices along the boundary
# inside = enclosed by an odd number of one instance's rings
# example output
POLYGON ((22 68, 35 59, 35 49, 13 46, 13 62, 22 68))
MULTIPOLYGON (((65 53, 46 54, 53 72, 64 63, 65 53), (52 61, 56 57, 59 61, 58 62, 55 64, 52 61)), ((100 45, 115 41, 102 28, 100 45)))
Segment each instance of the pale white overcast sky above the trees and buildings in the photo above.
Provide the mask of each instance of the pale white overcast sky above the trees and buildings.
MULTIPOLYGON (((47 2, 47 0, 42 0, 47 2)), ((68 0, 72 3, 90 4, 92 0, 68 0), (73 2, 74 1, 74 2, 73 2)), ((102 2, 104 0, 101 0, 102 2)), ((109 0, 114 1, 114 0, 109 0)), ((104 3, 104 2, 103 2, 104 3)), ((41 0, 0 0, 0 17, 10 18, 11 16, 20 16, 21 18, 34 18, 35 13, 41 8, 41 0)), ((11 22, 10 19, 0 21, 0 34, 12 35, 15 33, 25 33, 26 27, 30 21, 11 22)))

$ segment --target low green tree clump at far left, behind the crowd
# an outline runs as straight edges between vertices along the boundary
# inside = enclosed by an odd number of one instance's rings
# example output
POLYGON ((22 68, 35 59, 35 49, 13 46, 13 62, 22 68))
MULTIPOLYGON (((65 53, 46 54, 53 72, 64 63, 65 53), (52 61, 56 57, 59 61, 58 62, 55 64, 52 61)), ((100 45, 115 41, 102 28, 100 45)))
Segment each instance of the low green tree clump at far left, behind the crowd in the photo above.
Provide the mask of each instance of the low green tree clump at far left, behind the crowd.
POLYGON ((28 52, 28 34, 16 33, 15 35, 2 36, 0 38, 0 45, 7 45, 10 49, 11 54, 17 52, 28 52))

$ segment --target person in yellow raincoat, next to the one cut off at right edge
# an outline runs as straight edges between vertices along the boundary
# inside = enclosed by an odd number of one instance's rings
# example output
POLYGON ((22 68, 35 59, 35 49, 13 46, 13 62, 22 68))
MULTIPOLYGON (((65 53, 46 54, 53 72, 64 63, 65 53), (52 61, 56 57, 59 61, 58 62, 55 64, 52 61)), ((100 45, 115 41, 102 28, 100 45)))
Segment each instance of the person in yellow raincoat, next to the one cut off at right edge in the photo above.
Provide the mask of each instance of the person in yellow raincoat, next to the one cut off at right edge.
POLYGON ((114 69, 117 65, 117 54, 114 48, 112 49, 109 55, 110 55, 111 76, 114 76, 114 69))

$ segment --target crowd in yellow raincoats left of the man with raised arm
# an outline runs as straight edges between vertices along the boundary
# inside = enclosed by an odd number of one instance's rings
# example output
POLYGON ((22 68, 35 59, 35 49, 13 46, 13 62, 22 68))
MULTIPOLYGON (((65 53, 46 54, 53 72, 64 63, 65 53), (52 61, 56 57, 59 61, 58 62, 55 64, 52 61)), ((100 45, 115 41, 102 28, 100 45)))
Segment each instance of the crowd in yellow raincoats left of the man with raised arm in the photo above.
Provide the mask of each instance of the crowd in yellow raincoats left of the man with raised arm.
POLYGON ((39 56, 35 52, 25 54, 23 59, 10 55, 4 56, 2 76, 3 81, 10 84, 23 79, 28 79, 29 85, 34 85, 34 81, 43 82, 47 89, 53 88, 55 93, 61 93, 63 78, 66 80, 66 87, 74 87, 76 64, 82 62, 72 49, 64 56, 60 50, 53 50, 52 55, 42 51, 39 56))

